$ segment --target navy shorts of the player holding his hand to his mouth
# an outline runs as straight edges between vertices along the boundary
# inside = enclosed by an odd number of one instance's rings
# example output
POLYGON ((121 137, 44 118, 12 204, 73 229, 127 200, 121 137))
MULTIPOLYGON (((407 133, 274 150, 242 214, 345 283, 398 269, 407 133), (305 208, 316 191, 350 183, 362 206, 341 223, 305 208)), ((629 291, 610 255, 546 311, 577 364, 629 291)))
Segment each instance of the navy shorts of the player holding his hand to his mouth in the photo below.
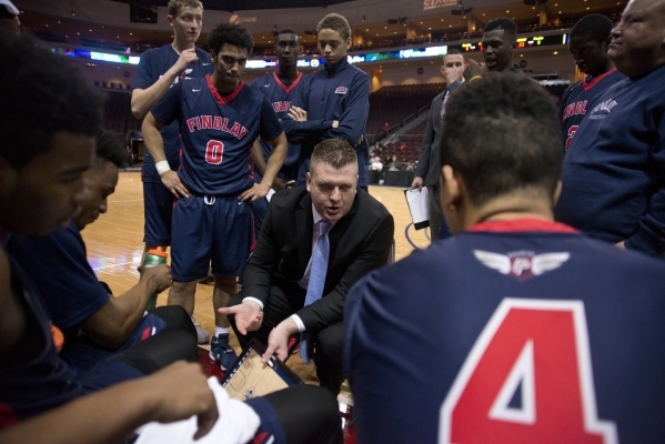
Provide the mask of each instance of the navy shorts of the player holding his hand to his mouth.
POLYGON ((175 198, 161 182, 143 182, 143 242, 151 245, 171 244, 171 215, 175 198))

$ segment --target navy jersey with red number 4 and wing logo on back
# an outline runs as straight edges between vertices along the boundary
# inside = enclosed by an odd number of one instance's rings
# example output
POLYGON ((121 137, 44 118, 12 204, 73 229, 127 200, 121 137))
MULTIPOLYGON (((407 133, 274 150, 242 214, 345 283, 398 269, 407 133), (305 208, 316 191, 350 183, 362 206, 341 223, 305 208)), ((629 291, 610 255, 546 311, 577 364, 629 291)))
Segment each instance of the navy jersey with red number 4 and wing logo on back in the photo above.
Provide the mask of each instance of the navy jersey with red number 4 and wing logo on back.
POLYGON ((357 442, 665 442, 663 276, 537 220, 373 272, 344 314, 357 442))

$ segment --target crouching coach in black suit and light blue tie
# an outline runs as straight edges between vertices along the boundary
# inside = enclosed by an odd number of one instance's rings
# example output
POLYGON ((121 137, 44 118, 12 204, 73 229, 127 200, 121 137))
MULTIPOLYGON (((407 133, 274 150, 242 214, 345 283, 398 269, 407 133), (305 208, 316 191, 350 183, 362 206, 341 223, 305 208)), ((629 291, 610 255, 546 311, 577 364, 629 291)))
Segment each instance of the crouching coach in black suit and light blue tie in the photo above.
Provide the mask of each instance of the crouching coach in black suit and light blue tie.
POLYGON ((393 216, 357 188, 353 148, 343 140, 325 140, 312 154, 306 189, 284 190, 272 198, 242 276, 242 292, 220 312, 229 315, 242 345, 252 337, 268 343, 264 362, 273 354, 284 360, 289 339, 300 332, 306 340, 301 355, 315 345, 321 385, 337 393, 344 381, 346 293, 359 279, 387 263, 393 236, 393 216), (328 239, 325 248, 320 238, 328 239), (326 250, 326 264, 320 268, 321 251, 326 250), (319 299, 311 302, 318 285, 319 299))

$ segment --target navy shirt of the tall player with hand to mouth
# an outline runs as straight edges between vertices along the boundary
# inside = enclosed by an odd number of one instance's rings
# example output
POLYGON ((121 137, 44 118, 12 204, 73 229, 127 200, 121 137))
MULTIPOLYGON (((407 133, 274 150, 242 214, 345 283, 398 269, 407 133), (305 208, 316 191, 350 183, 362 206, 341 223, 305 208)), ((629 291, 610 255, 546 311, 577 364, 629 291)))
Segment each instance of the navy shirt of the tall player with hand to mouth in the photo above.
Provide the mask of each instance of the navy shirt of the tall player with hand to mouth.
MULTIPOLYGON (((190 64, 180 77, 175 78, 173 84, 181 80, 200 78, 214 71, 214 65, 210 60, 210 54, 202 49, 197 48, 199 61, 190 64)), ((175 52, 171 44, 164 44, 160 48, 149 49, 141 54, 141 60, 137 65, 137 73, 132 82, 132 89, 148 89, 152 87, 175 62, 180 54, 175 52)), ((169 165, 172 170, 178 170, 180 165, 180 130, 177 123, 168 125, 161 131, 164 140, 164 151, 169 165)), ((143 155, 143 167, 141 169, 141 178, 143 182, 162 183, 152 157, 145 150, 143 155)))

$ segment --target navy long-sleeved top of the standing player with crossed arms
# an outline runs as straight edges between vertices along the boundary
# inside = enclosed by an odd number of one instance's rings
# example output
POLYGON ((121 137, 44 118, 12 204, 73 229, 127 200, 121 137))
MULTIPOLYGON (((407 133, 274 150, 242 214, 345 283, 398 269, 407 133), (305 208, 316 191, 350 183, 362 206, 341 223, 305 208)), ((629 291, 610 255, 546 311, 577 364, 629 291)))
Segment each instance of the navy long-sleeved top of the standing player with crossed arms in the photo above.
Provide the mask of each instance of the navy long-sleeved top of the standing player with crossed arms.
MULTIPOLYGON (((347 60, 341 60, 334 67, 326 64, 303 79, 291 105, 308 111, 306 122, 289 117, 283 120, 289 142, 300 144, 299 161, 309 164, 306 161, 312 157, 314 147, 325 139, 344 139, 355 147, 359 185, 366 186, 370 145, 364 132, 370 113, 370 77, 347 60), (332 128, 333 120, 340 122, 337 128, 332 128), (362 143, 357 144, 361 138, 362 143)), ((304 183, 302 173, 299 174, 299 183, 304 183)))

